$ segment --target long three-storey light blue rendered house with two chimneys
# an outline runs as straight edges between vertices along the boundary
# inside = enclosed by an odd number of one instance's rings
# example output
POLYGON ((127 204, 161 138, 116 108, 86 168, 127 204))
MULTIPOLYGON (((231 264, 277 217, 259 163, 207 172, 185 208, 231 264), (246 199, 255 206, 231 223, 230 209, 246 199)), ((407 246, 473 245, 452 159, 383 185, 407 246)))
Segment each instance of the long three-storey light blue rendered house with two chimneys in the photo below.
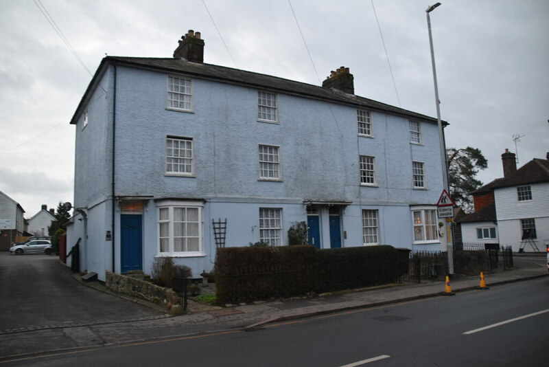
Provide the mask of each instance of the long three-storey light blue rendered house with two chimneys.
POLYGON ((203 51, 189 31, 173 58, 108 56, 93 76, 71 120, 81 271, 170 256, 198 278, 218 246, 288 245, 301 221, 319 249, 445 249, 436 119, 355 96, 344 67, 319 87, 203 51))

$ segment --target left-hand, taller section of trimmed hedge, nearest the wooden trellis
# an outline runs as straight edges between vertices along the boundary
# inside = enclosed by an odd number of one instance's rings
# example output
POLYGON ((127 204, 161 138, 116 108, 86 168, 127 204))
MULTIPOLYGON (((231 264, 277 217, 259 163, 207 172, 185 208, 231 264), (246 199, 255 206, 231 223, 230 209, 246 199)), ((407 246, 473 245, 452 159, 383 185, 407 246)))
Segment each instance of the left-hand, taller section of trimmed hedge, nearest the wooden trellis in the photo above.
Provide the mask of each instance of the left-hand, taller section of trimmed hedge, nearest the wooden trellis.
POLYGON ((315 289, 316 255, 309 245, 225 247, 215 256, 218 302, 305 296, 315 289))

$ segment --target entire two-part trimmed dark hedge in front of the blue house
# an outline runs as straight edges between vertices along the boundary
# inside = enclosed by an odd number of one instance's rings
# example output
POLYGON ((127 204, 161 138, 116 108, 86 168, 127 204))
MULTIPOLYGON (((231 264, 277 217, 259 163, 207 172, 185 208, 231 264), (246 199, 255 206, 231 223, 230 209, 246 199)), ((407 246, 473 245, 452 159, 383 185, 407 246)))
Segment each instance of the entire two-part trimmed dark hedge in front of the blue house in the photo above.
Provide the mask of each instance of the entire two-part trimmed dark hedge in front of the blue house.
POLYGON ((397 266, 390 245, 226 247, 215 258, 215 287, 220 303, 299 297, 395 282, 397 266))

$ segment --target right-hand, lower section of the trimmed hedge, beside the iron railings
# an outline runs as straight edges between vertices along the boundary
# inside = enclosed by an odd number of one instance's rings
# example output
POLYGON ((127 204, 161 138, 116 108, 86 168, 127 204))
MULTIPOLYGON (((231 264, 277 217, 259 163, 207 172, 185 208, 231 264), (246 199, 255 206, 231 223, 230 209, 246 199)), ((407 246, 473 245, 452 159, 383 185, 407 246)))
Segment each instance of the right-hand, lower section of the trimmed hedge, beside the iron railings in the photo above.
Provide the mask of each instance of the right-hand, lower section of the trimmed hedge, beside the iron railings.
POLYGON ((320 249, 318 293, 384 285, 397 280, 397 249, 389 245, 320 249))

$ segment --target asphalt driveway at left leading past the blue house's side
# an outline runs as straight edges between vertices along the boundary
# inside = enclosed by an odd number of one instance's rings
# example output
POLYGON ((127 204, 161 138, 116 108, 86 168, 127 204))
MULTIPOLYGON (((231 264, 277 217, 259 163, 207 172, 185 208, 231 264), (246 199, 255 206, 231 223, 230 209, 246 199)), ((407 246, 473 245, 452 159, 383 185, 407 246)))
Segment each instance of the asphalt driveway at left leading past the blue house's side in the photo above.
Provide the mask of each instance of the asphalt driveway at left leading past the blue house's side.
POLYGON ((0 280, 0 331, 159 315, 140 304, 84 287, 56 256, 0 252, 0 280))

